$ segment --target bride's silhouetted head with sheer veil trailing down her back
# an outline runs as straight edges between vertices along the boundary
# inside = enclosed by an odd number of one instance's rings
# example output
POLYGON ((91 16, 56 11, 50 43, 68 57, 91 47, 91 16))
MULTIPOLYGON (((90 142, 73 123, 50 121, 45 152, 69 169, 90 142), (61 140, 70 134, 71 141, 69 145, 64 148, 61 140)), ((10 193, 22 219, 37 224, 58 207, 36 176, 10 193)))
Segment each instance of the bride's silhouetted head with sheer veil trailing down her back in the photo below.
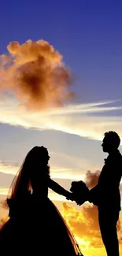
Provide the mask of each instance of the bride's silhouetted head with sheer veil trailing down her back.
POLYGON ((50 177, 50 167, 47 165, 47 158, 50 158, 48 150, 43 146, 33 147, 28 152, 9 188, 8 198, 28 195, 28 191, 31 190, 31 180, 36 174, 40 173, 40 177, 50 177))

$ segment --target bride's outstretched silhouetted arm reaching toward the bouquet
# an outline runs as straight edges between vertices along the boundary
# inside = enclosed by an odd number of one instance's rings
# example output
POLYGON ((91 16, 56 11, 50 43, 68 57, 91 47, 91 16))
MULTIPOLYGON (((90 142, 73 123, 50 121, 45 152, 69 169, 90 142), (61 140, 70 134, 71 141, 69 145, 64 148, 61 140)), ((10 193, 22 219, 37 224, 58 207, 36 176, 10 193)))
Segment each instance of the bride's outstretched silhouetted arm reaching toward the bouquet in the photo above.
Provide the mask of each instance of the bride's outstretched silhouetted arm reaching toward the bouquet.
POLYGON ((73 201, 72 193, 65 190, 64 187, 61 187, 57 182, 54 180, 49 179, 48 187, 50 187, 54 192, 56 192, 59 195, 64 195, 66 198, 73 201))

